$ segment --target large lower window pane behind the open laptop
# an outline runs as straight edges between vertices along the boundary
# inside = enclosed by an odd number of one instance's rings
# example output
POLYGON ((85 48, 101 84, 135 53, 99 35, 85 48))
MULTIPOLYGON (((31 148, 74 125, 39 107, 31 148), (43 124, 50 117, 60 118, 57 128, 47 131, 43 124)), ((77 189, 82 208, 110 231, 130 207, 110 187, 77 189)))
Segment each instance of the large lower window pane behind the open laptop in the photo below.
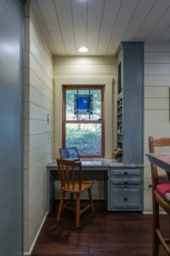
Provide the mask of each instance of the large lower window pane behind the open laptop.
POLYGON ((65 147, 79 154, 101 154, 101 124, 65 124, 65 147))

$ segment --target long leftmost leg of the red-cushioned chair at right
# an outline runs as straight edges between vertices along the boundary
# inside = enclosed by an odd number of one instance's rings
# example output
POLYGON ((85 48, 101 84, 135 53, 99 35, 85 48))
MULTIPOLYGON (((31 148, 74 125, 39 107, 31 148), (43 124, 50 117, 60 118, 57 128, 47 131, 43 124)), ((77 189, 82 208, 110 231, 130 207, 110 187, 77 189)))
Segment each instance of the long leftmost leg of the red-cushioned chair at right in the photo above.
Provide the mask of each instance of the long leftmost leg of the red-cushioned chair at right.
POLYGON ((153 220, 152 220, 152 256, 159 255, 159 239, 156 235, 156 229, 159 229, 159 205, 156 202, 154 190, 152 192, 153 220))

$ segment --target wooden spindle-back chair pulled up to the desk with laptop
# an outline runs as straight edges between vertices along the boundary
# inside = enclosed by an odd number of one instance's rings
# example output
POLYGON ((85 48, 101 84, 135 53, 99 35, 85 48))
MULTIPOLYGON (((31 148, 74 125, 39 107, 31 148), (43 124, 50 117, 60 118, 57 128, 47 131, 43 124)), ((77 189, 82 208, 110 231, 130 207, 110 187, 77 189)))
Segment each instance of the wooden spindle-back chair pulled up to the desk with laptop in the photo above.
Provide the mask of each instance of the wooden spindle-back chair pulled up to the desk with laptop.
POLYGON ((59 202, 59 210, 57 214, 57 220, 59 221, 62 207, 67 207, 70 210, 76 211, 76 226, 80 226, 80 215, 87 211, 88 208, 92 208, 94 213, 94 201, 92 198, 91 187, 93 183, 88 183, 82 181, 82 162, 75 162, 71 160, 59 160, 57 159, 57 165, 59 170, 59 179, 61 182, 62 195, 59 202), (75 179, 75 168, 77 168, 78 179, 75 179), (80 194, 88 189, 88 196, 90 204, 84 207, 82 211, 80 210, 80 194), (71 201, 67 201, 65 206, 63 206, 65 200, 65 192, 71 193, 71 201), (73 204, 73 194, 77 194, 76 209, 75 207, 69 207, 69 204, 73 204))

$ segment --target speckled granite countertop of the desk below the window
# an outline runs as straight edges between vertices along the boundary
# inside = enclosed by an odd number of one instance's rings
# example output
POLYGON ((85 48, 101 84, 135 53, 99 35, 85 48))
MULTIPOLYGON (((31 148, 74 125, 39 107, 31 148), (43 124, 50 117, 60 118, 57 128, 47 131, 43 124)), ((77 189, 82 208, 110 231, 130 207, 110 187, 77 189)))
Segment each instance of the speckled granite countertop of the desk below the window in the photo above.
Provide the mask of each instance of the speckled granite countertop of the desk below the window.
MULTIPOLYGON (((82 159, 82 169, 88 168, 109 168, 109 167, 143 167, 143 165, 125 165, 123 163, 117 163, 116 160, 98 158, 98 159, 82 159)), ((47 165, 48 170, 57 169, 56 160, 50 160, 47 165)))

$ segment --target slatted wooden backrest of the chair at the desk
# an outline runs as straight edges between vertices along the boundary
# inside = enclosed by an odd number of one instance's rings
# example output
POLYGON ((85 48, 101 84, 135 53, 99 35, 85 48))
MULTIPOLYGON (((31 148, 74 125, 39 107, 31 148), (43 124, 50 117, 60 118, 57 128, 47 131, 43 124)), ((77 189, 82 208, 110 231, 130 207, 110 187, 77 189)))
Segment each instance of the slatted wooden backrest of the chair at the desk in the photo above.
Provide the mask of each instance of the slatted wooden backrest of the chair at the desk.
POLYGON ((61 187, 67 188, 68 190, 74 190, 75 181, 78 181, 79 191, 82 190, 82 162, 75 162, 71 160, 60 160, 57 159, 57 166, 59 171, 59 179, 61 187), (78 171, 78 180, 75 179, 75 168, 78 171))

